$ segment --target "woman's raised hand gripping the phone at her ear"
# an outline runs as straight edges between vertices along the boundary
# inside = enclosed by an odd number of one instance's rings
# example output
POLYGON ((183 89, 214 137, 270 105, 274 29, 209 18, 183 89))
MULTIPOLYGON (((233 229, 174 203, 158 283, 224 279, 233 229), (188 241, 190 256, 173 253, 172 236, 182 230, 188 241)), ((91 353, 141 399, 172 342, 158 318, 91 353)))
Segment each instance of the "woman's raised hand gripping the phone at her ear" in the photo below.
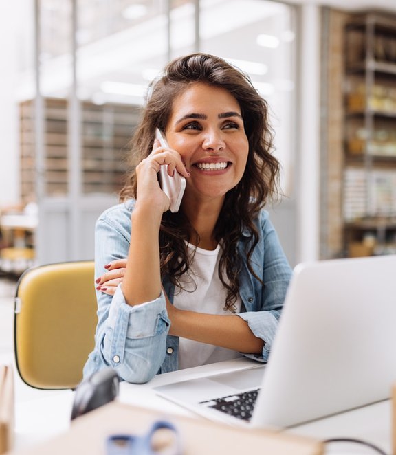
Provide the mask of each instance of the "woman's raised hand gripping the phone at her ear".
POLYGON ((188 171, 183 164, 181 156, 172 148, 164 148, 155 139, 153 151, 148 157, 136 166, 137 197, 135 208, 148 206, 166 212, 170 201, 159 186, 157 173, 163 164, 168 165, 168 174, 173 175, 176 171, 184 177, 188 177, 188 171))

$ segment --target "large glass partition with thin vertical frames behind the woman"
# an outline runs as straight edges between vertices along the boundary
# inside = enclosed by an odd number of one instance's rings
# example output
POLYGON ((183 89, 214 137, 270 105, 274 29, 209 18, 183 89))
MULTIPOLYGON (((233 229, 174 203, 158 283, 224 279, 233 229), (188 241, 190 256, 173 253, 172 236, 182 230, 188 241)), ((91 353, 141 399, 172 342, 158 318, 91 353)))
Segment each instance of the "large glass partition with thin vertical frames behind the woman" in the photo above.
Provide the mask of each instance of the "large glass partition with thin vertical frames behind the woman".
POLYGON ((40 262, 92 257, 94 221, 118 199, 148 82, 183 54, 217 54, 250 75, 270 104, 282 188, 292 195, 293 7, 267 0, 34 5, 38 66, 25 74, 19 108, 21 192, 41 206, 40 262))

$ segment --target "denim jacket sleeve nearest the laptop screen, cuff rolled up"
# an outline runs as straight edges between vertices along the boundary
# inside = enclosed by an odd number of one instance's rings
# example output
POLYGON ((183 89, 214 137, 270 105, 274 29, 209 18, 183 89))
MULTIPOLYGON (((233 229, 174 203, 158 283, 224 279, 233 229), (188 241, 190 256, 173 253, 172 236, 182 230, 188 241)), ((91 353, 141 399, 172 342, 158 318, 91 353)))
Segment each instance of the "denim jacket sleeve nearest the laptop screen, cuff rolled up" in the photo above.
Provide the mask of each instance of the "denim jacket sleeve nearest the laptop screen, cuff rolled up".
POLYGON ((244 355, 267 362, 292 277, 292 269, 267 212, 262 212, 259 227, 261 240, 252 254, 252 267, 263 280, 263 285, 250 274, 250 282, 255 283, 253 287, 256 291, 252 292, 252 298, 244 302, 247 311, 239 313, 239 317, 248 322, 250 330, 256 337, 264 341, 261 356, 244 355), (250 300, 253 300, 252 304, 250 300))

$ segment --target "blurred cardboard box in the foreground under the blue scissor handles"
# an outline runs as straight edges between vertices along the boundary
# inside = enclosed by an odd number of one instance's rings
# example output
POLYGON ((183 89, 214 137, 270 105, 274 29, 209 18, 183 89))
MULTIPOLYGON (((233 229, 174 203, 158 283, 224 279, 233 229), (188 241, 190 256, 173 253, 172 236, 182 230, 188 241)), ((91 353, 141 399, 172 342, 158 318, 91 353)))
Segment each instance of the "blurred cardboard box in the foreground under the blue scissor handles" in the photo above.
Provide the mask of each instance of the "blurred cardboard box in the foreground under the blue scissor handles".
POLYGON ((113 402, 75 419, 69 432, 14 455, 105 455, 111 434, 144 434, 157 419, 179 430, 183 455, 320 455, 322 443, 271 430, 241 429, 206 419, 164 416, 152 410, 113 402))

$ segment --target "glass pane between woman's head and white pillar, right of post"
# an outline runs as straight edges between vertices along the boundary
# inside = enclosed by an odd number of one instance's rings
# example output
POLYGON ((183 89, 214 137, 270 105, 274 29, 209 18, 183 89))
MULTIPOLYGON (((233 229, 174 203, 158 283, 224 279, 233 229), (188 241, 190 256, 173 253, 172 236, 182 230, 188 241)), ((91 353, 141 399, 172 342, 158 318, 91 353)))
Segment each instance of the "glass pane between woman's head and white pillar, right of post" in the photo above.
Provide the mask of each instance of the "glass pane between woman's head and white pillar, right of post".
POLYGON ((295 10, 263 0, 201 1, 201 51, 217 54, 252 79, 270 106, 281 188, 293 195, 295 10))

